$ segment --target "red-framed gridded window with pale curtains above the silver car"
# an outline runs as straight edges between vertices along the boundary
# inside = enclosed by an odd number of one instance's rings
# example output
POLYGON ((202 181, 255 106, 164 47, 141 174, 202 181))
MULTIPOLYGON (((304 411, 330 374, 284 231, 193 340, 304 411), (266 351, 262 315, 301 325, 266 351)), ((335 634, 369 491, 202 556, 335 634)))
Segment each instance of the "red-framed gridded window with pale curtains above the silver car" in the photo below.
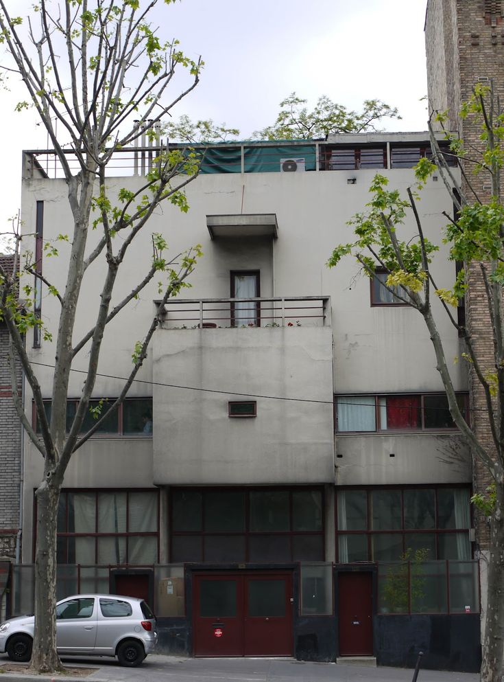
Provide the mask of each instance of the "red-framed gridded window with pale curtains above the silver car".
POLYGON ((57 548, 58 564, 157 563, 159 491, 62 490, 57 548))

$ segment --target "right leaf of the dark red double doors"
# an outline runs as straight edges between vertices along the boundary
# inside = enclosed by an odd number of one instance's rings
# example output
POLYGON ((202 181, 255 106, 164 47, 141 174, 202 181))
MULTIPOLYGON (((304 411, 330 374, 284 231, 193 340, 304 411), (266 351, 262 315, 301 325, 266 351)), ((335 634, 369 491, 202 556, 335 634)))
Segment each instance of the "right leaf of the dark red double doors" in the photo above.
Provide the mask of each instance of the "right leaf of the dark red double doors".
POLYGON ((292 576, 245 580, 245 656, 292 656, 292 576))

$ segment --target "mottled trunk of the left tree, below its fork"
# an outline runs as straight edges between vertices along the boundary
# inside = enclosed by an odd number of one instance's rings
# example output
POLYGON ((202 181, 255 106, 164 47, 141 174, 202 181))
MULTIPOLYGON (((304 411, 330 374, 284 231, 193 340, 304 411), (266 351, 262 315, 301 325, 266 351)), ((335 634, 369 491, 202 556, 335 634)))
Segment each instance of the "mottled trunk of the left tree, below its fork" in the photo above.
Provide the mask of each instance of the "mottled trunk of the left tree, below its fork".
POLYGON ((37 492, 35 558, 35 633, 32 668, 37 672, 63 670, 56 652, 56 530, 60 486, 47 479, 37 492))

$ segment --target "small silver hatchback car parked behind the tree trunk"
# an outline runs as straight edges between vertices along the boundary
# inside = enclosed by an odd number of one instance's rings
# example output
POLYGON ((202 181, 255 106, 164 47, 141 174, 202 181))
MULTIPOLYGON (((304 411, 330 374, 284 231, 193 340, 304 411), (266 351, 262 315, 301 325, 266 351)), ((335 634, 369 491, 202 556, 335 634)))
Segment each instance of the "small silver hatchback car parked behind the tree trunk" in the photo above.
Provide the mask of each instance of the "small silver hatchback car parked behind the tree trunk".
MULTIPOLYGON (((0 653, 11 661, 32 657, 34 616, 10 618, 0 625, 0 653)), ((139 666, 156 646, 156 617, 136 597, 79 594, 56 605, 60 655, 117 656, 121 666, 139 666)))

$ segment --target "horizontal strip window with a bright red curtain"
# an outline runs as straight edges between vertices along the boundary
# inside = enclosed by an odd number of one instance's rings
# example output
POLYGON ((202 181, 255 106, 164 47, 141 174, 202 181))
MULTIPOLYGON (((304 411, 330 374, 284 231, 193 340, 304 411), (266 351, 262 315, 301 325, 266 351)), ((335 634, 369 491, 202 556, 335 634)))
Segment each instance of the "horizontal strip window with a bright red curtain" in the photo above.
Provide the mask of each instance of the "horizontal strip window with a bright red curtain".
MULTIPOLYGON (((457 394, 457 403, 468 421, 468 394, 457 394)), ((379 431, 446 431, 457 429, 446 394, 396 396, 336 396, 339 433, 379 431)))

